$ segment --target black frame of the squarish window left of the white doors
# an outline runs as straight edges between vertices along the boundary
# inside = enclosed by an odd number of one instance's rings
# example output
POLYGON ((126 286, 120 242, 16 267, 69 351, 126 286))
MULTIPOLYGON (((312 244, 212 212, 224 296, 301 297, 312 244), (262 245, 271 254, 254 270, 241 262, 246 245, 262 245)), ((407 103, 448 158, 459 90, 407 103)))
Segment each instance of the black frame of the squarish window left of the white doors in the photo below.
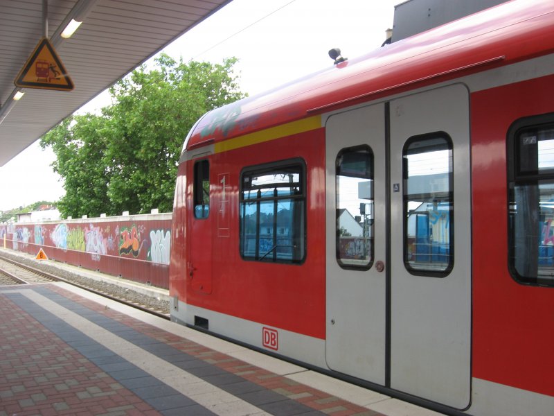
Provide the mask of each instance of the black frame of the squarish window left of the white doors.
MULTIPOLYGON (((304 159, 302 158, 294 158, 294 159, 285 159, 277 162, 270 162, 267 164, 259 164, 254 166, 247 166, 242 168, 242 171, 240 172, 240 190, 239 190, 239 215, 238 215, 238 221, 239 221, 239 254, 240 257, 244 261, 260 261, 263 263, 285 263, 285 264, 294 264, 294 265, 300 265, 304 263, 306 257, 307 257, 307 168, 306 163, 304 159), (294 193, 292 195, 285 195, 285 196, 265 196, 260 198, 249 198, 248 200, 244 199, 244 190, 245 190, 245 178, 246 177, 253 177, 255 175, 264 175, 264 174, 271 174, 272 172, 276 171, 283 171, 287 168, 298 168, 299 173, 299 181, 298 184, 300 186, 300 191, 298 193, 294 193), (274 239, 274 245, 271 247, 270 250, 264 253, 260 253, 260 247, 259 247, 259 232, 262 227, 266 227, 266 225, 262 225, 260 223, 259 218, 259 205, 261 205, 262 202, 267 201, 273 201, 276 205, 278 203, 278 200, 294 200, 301 201, 301 211, 295 212, 294 215, 300 216, 300 218, 296 218, 296 221, 300 222, 300 225, 298 226, 298 233, 301 235, 299 236, 292 236, 292 240, 297 240, 300 244, 299 247, 296 247, 296 245, 291 245, 292 248, 292 259, 283 259, 279 258, 277 255, 278 250, 276 250, 279 245, 276 242, 278 239, 278 221, 276 220, 276 217, 274 216, 274 223, 273 223, 273 239, 274 239), (244 248, 244 225, 243 221, 245 218, 244 210, 246 209, 246 203, 247 202, 256 202, 258 204, 258 214, 256 217, 256 250, 255 254, 253 256, 245 255, 245 248, 244 248), (294 255, 295 250, 300 252, 301 255, 294 255)), ((296 182, 295 182, 296 183, 296 182)), ((274 211, 276 210, 276 207, 274 207, 274 211)), ((296 229, 296 228, 295 228, 296 229)))

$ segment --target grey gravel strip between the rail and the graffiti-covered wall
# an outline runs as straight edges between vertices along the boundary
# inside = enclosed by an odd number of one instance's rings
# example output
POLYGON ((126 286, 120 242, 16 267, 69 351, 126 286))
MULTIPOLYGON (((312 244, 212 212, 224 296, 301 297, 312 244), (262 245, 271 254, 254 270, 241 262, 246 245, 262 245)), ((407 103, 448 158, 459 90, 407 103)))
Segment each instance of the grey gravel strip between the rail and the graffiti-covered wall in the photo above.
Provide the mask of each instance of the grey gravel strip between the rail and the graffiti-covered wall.
POLYGON ((159 311, 166 314, 170 313, 169 302, 166 300, 161 300, 154 296, 144 295, 143 293, 138 293, 136 291, 133 291, 132 289, 118 286, 116 284, 111 284, 107 281, 98 281, 96 279, 90 279, 88 277, 80 276, 67 270, 63 270, 62 268, 49 266, 48 264, 44 263, 38 263, 35 260, 15 256, 5 251, 1 252, 1 254, 8 259, 19 261, 19 263, 23 263, 27 266, 43 270, 44 272, 50 273, 51 275, 62 277, 62 279, 73 281, 82 286, 93 288, 96 291, 107 293, 108 295, 114 297, 123 298, 128 302, 139 304, 141 306, 144 306, 145 308, 153 309, 154 311, 159 311))

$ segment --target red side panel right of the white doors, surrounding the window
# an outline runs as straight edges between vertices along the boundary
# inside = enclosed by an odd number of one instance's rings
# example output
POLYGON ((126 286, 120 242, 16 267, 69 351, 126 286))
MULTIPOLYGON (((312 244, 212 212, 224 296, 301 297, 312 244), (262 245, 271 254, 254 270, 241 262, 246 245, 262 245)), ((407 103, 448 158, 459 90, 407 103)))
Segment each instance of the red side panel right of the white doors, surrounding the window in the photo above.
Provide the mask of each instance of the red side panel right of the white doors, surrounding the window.
POLYGON ((547 76, 472 96, 474 376, 550 396, 552 361, 526 352, 554 343, 552 289, 518 284, 507 268, 506 132, 521 117, 554 112, 543 94, 552 88, 547 76))

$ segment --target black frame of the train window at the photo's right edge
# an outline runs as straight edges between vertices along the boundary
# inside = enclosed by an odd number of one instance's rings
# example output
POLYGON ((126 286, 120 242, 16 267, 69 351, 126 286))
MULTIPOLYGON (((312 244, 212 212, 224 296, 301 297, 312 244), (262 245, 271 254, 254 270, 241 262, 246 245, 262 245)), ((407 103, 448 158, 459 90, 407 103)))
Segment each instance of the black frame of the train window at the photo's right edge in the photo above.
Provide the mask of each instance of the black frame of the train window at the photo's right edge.
MULTIPOLYGON (((546 130, 546 129, 554 129, 554 113, 548 113, 548 114, 539 114, 539 115, 533 115, 533 116, 526 116, 522 117, 520 119, 517 119, 510 125, 510 128, 508 128, 507 136, 506 136, 506 159, 507 159, 507 211, 508 211, 508 270, 510 272, 510 276, 512 279, 514 279, 518 284, 526 285, 526 286, 539 286, 539 287, 554 287, 554 279, 541 279, 539 277, 538 270, 540 268, 539 266, 539 250, 540 250, 540 241, 537 241, 537 276, 524 276, 521 275, 520 272, 517 270, 516 262, 517 262, 517 254, 515 245, 515 240, 517 237, 516 234, 516 211, 512 208, 512 204, 516 205, 516 196, 515 196, 515 188, 518 186, 535 186, 537 187, 537 207, 539 206, 540 202, 540 193, 539 193, 539 186, 541 184, 550 183, 554 184, 554 167, 548 168, 543 171, 539 170, 538 166, 538 148, 537 148, 537 168, 531 169, 529 167, 522 166, 522 156, 523 151, 521 150, 520 146, 518 146, 520 142, 521 135, 525 132, 530 132, 531 130, 535 130, 538 132, 539 130, 546 130)), ((532 144, 532 143, 531 143, 532 144)), ((537 141, 538 146, 538 141, 537 141)), ((529 153, 529 152, 528 152, 529 153)), ((538 207, 536 212, 533 212, 531 216, 537 216, 537 225, 541 225, 541 210, 540 207, 538 207)), ((536 229, 537 232, 537 238, 540 238, 542 234, 542 230, 539 230, 539 227, 536 229)), ((525 250, 535 250, 534 247, 526 248, 525 250)), ((526 255, 524 257, 528 257, 529 252, 526 252, 526 255)), ((553 270, 554 271, 554 270, 553 270)))

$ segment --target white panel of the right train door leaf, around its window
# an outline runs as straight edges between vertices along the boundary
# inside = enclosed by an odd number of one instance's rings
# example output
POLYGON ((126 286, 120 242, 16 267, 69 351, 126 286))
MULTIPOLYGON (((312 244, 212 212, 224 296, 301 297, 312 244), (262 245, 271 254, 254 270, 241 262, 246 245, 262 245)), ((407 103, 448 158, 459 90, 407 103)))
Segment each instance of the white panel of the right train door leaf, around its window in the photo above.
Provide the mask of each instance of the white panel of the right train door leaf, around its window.
POLYGON ((402 150, 416 135, 445 132, 453 144, 454 267, 444 277, 404 265, 404 227, 391 231, 391 388, 465 408, 471 376, 469 96, 463 85, 391 102, 391 221, 402 224, 402 150))

